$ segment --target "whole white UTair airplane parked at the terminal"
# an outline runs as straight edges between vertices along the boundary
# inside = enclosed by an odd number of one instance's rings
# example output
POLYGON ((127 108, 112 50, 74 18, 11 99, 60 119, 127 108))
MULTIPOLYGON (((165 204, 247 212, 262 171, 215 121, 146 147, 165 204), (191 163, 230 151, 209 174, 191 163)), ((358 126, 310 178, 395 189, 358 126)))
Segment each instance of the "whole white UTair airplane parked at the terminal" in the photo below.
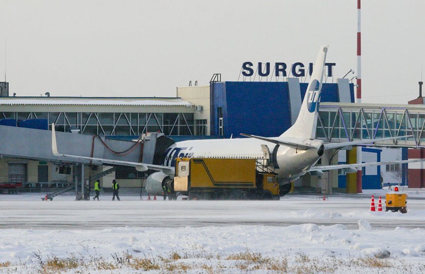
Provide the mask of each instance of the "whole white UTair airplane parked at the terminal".
POLYGON ((157 172, 149 175, 146 180, 146 191, 152 195, 161 195, 162 186, 164 186, 164 184, 172 186, 174 164, 177 157, 266 159, 270 161, 270 164, 274 165, 274 172, 277 174, 279 180, 281 195, 289 192, 291 188, 290 183, 292 181, 300 178, 307 172, 310 172, 312 175, 321 175, 323 171, 343 169, 346 173, 350 173, 356 172, 357 170, 355 168, 360 166, 403 164, 424 161, 425 159, 416 159, 364 164, 315 166, 323 155, 324 150, 395 139, 395 137, 389 137, 342 143, 324 143, 322 140, 315 139, 320 92, 323 81, 323 69, 328 47, 329 46, 324 45, 320 48, 297 120, 293 126, 279 137, 259 137, 242 134, 250 138, 204 139, 175 142, 165 151, 163 165, 157 165, 60 154, 57 151, 55 125, 52 124, 52 152, 58 157, 93 160, 103 164, 134 166, 138 171, 146 171, 148 169, 157 170, 157 172), (270 153, 270 151, 272 151, 272 153, 270 153))

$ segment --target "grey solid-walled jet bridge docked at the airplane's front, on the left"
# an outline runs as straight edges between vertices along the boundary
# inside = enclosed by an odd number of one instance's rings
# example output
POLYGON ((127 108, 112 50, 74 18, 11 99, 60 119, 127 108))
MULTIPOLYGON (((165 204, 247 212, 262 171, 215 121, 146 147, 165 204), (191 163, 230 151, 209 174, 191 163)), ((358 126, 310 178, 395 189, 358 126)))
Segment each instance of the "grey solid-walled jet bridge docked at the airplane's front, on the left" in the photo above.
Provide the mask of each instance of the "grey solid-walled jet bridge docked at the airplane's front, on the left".
MULTIPOLYGON (((57 146, 62 154, 152 164, 156 146, 164 142, 161 134, 143 135, 138 142, 108 139, 98 135, 57 132, 57 146)), ((169 142, 169 138, 166 138, 169 142)), ((52 153, 52 132, 28 128, 0 126, 0 155, 55 163, 102 163, 57 157, 52 153)))

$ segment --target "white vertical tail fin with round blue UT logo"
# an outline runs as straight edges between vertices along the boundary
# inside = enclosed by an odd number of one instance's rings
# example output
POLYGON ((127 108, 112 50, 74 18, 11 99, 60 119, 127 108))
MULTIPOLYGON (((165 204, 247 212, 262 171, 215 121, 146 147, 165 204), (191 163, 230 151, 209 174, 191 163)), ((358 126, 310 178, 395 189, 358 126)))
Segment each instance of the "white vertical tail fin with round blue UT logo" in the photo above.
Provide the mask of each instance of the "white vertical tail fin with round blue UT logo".
POLYGON ((318 116, 317 110, 320 102, 323 69, 328 48, 329 45, 320 47, 319 55, 317 55, 316 62, 314 63, 312 77, 307 86, 306 95, 304 96, 298 118, 292 127, 285 131, 281 137, 315 138, 318 116))

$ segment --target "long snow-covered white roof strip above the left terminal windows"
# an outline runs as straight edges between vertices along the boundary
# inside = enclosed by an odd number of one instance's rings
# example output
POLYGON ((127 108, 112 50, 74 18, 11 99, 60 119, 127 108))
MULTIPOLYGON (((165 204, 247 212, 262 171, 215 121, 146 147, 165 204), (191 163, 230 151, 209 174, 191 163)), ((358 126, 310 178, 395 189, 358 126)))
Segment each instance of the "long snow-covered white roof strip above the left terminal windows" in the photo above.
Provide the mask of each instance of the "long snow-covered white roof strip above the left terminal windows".
POLYGON ((73 106, 194 106, 180 98, 75 98, 75 97, 3 97, 0 105, 73 105, 73 106))

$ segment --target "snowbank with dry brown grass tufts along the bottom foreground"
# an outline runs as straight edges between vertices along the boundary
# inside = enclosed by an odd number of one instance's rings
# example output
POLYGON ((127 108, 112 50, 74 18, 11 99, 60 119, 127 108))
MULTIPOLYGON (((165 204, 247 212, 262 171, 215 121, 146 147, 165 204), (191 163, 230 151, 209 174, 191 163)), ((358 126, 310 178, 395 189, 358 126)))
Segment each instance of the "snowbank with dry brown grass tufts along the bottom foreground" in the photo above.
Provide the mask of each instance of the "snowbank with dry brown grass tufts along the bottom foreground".
POLYGON ((423 229, 3 229, 0 273, 424 273, 423 229), (7 239, 6 240, 6 236, 7 239))

